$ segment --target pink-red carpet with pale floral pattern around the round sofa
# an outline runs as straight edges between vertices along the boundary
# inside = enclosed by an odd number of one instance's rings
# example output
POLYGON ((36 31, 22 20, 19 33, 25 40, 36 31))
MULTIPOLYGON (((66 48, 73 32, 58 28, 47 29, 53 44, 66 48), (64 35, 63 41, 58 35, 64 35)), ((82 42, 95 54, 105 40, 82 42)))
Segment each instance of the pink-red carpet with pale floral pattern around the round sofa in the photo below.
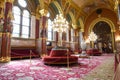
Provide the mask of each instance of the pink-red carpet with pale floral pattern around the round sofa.
POLYGON ((91 59, 79 58, 78 64, 70 66, 44 65, 41 59, 14 60, 0 63, 0 80, 80 80, 88 72, 113 55, 94 56, 91 59))

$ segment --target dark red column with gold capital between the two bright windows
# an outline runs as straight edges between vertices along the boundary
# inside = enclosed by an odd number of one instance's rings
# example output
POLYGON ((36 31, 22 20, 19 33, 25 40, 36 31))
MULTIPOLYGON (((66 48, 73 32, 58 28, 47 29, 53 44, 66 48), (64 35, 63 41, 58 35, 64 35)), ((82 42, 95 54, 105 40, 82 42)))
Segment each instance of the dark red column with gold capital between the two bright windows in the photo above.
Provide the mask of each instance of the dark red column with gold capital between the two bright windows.
POLYGON ((47 39, 47 10, 40 10, 41 20, 40 20, 40 42, 41 42, 41 57, 47 55, 46 39, 47 39))

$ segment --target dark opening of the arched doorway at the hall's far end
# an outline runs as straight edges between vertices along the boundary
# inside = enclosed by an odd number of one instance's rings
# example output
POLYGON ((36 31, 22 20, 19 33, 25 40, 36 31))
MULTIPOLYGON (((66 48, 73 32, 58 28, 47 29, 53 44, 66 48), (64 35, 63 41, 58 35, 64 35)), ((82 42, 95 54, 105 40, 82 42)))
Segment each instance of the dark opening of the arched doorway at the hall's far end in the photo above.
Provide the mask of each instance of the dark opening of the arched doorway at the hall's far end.
POLYGON ((94 25, 93 31, 98 36, 98 39, 95 42, 97 48, 104 53, 113 52, 110 25, 104 21, 99 21, 94 25))

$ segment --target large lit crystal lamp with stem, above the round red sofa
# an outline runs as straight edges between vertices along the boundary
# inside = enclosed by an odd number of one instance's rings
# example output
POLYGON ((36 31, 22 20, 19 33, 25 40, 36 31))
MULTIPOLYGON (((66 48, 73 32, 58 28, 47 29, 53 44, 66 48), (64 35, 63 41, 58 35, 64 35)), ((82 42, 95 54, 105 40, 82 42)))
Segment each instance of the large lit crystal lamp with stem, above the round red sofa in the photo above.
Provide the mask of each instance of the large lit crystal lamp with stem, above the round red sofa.
POLYGON ((60 35, 60 46, 62 46, 62 33, 68 29, 68 22, 63 17, 63 14, 58 14, 54 21, 52 22, 53 31, 59 32, 60 35))

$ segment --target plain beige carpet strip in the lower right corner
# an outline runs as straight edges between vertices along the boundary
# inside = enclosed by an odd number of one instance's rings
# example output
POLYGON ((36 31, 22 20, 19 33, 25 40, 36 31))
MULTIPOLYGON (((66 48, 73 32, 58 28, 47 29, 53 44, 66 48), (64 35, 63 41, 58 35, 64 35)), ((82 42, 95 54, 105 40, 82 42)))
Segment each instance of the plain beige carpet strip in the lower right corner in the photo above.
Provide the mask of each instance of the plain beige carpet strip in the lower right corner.
POLYGON ((100 66, 90 71, 81 80, 113 80, 114 76, 114 56, 105 60, 100 66))

